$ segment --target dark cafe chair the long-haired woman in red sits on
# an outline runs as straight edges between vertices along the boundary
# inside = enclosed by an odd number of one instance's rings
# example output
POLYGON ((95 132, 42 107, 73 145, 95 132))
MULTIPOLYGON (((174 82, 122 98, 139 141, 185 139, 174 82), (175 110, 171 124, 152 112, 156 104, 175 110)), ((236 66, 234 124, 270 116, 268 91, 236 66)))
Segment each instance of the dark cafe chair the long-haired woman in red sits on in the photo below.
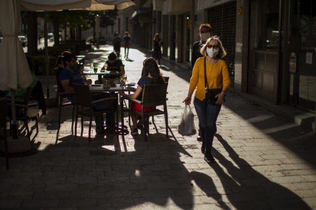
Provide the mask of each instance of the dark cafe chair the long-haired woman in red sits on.
MULTIPOLYGON (((147 141, 147 134, 149 134, 149 117, 159 114, 164 115, 164 121, 166 126, 166 137, 168 138, 168 112, 167 112, 167 87, 168 83, 154 84, 154 85, 145 85, 143 89, 142 100, 128 99, 122 97, 123 99, 128 100, 129 102, 134 102, 142 106, 142 111, 136 111, 131 108, 124 109, 122 111, 135 112, 141 115, 144 123, 144 138, 147 141), (144 108, 163 105, 163 110, 156 108, 151 112, 144 112, 144 108)), ((121 108, 123 108, 121 106, 121 108)))

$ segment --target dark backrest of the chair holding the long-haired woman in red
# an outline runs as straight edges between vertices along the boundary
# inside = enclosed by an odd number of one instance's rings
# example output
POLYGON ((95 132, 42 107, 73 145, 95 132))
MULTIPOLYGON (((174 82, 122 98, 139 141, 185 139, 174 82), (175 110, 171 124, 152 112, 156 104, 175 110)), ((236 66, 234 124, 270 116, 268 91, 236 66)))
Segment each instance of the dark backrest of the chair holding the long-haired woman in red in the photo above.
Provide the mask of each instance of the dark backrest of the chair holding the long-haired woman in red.
POLYGON ((144 85, 142 103, 144 107, 164 105, 166 103, 168 83, 144 85))

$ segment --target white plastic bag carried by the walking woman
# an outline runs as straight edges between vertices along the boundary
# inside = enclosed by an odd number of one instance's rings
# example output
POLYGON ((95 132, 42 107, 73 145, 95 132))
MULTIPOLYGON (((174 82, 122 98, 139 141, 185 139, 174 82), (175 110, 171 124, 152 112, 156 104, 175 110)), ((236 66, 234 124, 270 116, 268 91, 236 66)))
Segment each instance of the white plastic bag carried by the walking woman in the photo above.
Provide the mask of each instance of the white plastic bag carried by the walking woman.
POLYGON ((192 136, 197 133, 196 126, 194 125, 194 114, 190 105, 184 107, 182 119, 178 127, 178 133, 182 136, 192 136))

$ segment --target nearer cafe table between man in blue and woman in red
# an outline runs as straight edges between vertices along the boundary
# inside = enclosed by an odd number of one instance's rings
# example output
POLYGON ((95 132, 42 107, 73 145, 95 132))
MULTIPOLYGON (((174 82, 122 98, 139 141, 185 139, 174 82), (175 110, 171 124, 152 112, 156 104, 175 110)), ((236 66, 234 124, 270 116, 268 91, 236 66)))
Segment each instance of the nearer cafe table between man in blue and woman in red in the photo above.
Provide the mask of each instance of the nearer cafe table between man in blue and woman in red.
MULTIPOLYGON (((136 90, 136 86, 120 86, 117 84, 115 87, 107 86, 105 87, 103 84, 96 84, 96 85, 89 85, 90 92, 118 92, 118 91, 124 91, 124 92, 134 92, 136 90)), ((118 101, 120 102, 120 108, 123 110, 124 103, 123 98, 118 98, 118 101)), ((121 128, 124 128, 124 113, 121 111, 120 113, 121 117, 121 128)), ((122 135, 124 135, 124 132, 122 132, 122 135)))

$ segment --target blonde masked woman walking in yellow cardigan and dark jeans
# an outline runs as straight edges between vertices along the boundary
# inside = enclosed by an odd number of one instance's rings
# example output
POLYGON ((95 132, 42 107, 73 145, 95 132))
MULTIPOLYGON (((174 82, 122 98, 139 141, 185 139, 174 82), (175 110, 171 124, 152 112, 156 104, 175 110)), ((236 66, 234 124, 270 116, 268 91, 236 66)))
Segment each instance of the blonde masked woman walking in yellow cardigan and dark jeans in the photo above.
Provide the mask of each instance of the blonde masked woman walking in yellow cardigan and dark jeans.
POLYGON ((190 105, 192 94, 195 89, 197 90, 193 103, 200 125, 199 129, 202 139, 201 152, 204 153, 204 160, 210 163, 215 162, 211 148, 216 130, 217 116, 221 110, 225 92, 228 90, 231 81, 226 63, 222 60, 226 56, 226 51, 218 36, 207 39, 201 48, 201 54, 204 57, 198 58, 194 65, 190 79, 189 93, 183 102, 186 105, 190 105), (204 59, 206 61, 207 88, 222 88, 222 92, 215 97, 217 98, 215 105, 207 104, 205 101, 204 59))

